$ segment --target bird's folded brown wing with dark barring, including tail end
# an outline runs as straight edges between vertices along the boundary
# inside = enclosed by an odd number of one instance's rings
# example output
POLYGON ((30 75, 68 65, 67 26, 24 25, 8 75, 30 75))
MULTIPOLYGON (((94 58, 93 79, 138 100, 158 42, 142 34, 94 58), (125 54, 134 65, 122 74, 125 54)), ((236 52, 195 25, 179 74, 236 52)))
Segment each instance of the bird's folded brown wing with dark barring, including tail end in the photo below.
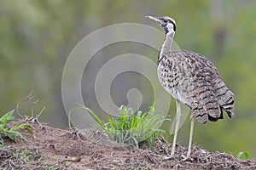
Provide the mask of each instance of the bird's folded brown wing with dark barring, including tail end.
POLYGON ((183 76, 179 91, 201 123, 223 118, 222 110, 234 115, 234 94, 226 87, 217 68, 201 54, 182 50, 172 52, 177 72, 183 76))

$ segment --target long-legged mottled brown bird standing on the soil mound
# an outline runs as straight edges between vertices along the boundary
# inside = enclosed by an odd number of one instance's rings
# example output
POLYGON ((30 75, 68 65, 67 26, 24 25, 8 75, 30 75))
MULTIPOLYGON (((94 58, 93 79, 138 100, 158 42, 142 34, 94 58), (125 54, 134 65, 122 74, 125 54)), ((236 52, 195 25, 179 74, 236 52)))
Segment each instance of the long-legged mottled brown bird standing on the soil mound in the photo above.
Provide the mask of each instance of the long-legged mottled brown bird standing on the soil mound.
POLYGON ((223 111, 235 116, 235 94, 219 76, 217 68, 202 54, 186 49, 172 51, 177 29, 176 21, 168 16, 146 16, 154 20, 166 33, 157 61, 160 84, 176 99, 176 125, 172 141, 171 158, 174 157, 181 113, 181 102, 191 109, 189 147, 184 160, 192 159, 191 144, 195 120, 205 124, 224 119, 223 111))

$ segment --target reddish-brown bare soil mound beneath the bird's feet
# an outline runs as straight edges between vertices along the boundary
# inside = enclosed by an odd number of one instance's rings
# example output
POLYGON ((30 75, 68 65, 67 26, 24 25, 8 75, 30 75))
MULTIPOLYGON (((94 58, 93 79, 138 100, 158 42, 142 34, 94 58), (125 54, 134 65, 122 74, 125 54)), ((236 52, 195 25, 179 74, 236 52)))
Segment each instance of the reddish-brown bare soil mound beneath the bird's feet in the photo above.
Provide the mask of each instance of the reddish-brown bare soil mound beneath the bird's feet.
POLYGON ((183 161, 187 148, 177 144, 175 157, 169 159, 172 144, 162 138, 148 149, 129 150, 95 129, 81 132, 34 123, 32 131, 20 131, 28 142, 6 141, 6 149, 0 150, 0 169, 256 169, 255 160, 199 146, 193 147, 193 160, 183 161))

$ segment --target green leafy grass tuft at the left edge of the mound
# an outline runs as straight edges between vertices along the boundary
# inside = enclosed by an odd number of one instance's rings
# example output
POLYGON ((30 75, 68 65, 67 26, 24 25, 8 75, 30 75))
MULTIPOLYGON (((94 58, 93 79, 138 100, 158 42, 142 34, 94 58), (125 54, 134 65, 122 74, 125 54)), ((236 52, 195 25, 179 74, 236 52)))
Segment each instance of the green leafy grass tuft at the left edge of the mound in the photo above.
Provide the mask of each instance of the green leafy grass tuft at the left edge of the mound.
POLYGON ((31 124, 23 123, 18 126, 8 127, 9 122, 15 121, 15 117, 13 116, 15 110, 9 111, 5 115, 0 118, 0 147, 4 147, 4 138, 8 137, 11 140, 16 139, 16 137, 20 137, 27 141, 27 139, 18 132, 19 129, 26 129, 29 133, 32 133, 31 129, 26 127, 32 127, 31 124))

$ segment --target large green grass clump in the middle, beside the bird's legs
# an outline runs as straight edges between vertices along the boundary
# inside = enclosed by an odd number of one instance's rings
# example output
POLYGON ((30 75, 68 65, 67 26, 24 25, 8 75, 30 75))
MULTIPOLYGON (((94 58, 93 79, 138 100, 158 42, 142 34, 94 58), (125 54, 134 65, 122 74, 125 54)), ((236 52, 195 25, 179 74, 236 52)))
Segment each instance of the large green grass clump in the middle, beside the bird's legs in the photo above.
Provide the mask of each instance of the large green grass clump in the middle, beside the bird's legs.
POLYGON ((125 105, 119 107, 119 116, 108 116, 108 122, 103 122, 89 108, 81 106, 76 109, 85 109, 96 119, 102 130, 108 134, 110 139, 113 139, 127 146, 136 146, 139 148, 140 142, 150 142, 156 140, 159 133, 165 133, 160 129, 160 125, 169 120, 166 116, 155 114, 154 105, 149 107, 148 112, 134 111, 125 105))

